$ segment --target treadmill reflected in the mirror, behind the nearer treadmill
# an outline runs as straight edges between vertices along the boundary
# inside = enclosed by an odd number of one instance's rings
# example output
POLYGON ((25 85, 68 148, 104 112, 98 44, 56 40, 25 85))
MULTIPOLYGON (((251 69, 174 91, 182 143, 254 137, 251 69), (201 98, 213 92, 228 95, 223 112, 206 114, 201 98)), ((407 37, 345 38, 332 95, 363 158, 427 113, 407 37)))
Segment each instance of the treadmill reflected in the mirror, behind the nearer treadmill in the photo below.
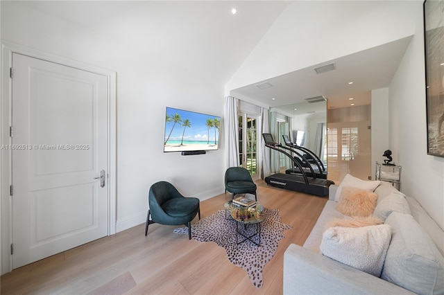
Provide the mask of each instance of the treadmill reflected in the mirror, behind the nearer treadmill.
MULTIPOLYGON (((301 147, 296 143, 292 143, 288 135, 282 135, 282 138, 284 139, 285 145, 291 147, 291 149, 293 150, 292 152, 296 154, 294 159, 301 164, 308 177, 313 177, 312 171, 314 171, 314 173, 316 173, 316 177, 327 179, 327 171, 325 169, 325 165, 314 152, 307 149, 306 147, 301 147), (308 169, 309 166, 311 166, 312 169, 308 169)), ((299 175, 301 174, 300 171, 300 168, 293 166, 293 168, 287 169, 285 173, 299 175)))

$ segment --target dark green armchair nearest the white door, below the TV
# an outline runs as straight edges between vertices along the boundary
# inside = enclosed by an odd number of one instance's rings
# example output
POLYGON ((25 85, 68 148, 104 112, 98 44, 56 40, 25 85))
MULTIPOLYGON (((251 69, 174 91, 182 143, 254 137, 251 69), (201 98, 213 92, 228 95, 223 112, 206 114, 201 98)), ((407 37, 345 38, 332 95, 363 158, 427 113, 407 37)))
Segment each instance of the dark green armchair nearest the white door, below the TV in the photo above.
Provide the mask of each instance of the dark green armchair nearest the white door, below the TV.
POLYGON ((148 234, 148 225, 152 223, 166 225, 188 226, 188 236, 191 240, 191 220, 199 215, 199 199, 184 197, 167 181, 153 184, 148 193, 148 215, 146 216, 145 236, 148 234), (150 220, 151 215, 151 220, 150 220))

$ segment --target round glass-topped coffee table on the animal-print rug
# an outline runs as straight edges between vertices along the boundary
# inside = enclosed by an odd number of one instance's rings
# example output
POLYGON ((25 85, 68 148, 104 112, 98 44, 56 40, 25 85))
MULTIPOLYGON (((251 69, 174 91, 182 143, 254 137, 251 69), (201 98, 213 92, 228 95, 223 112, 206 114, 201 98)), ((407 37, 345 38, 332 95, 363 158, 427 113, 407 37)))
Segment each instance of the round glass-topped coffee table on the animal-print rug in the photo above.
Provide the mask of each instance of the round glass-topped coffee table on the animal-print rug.
POLYGON ((254 206, 244 207, 244 206, 236 206, 232 204, 231 201, 226 202, 225 207, 225 218, 227 218, 226 213, 230 213, 232 219, 236 221, 236 242, 237 244, 241 244, 246 240, 253 242, 257 246, 261 245, 261 223, 265 219, 264 215, 264 207, 261 204, 257 203, 254 206), (244 225, 244 226, 242 226, 244 225), (253 233, 248 233, 246 231, 247 226, 255 226, 256 231, 253 233), (244 229, 242 229, 244 227, 244 229), (253 238, 257 235, 259 238, 259 242, 253 240, 253 238), (240 240, 239 240, 240 236, 240 240))

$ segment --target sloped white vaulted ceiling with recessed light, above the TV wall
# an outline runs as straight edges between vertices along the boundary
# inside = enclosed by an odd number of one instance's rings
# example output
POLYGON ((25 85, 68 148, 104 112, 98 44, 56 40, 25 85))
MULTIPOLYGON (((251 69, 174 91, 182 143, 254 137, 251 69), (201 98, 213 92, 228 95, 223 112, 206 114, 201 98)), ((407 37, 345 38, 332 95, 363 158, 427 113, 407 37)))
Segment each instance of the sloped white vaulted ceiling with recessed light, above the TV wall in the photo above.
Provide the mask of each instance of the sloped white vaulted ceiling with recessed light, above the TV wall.
MULTIPOLYGON (((3 1, 0 1, 3 2, 3 1)), ((110 43, 103 60, 183 69, 223 86, 291 1, 16 1, 110 43), (237 8, 232 15, 231 9, 237 8), (111 42, 109 42, 111 40, 111 42), (112 45, 114 43, 114 45, 112 45), (126 50, 122 50, 122 47, 126 50)), ((85 38, 86 39, 86 38, 85 38)), ((87 39, 86 39, 87 40, 87 39)))

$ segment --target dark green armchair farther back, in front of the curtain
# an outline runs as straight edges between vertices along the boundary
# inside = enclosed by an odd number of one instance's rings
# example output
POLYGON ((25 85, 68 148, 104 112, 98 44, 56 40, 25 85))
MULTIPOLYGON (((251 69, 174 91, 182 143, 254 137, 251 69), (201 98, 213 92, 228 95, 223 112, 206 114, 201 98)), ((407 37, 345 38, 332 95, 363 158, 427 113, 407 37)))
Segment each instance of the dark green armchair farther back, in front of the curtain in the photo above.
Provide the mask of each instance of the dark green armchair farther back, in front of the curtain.
POLYGON ((230 167, 225 171, 225 193, 227 190, 232 193, 232 199, 237 194, 253 194, 257 201, 256 184, 245 168, 230 167))

